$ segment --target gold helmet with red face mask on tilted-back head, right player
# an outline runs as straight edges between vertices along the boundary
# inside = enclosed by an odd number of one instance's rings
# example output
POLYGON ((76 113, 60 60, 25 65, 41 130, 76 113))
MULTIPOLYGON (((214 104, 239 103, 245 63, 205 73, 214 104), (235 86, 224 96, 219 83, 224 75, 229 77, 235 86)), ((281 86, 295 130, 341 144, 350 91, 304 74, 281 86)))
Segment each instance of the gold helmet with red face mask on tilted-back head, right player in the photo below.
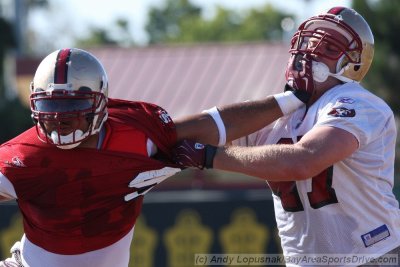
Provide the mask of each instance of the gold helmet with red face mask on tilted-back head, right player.
POLYGON ((330 73, 324 64, 312 62, 310 68, 315 81, 333 76, 342 82, 360 82, 371 66, 374 37, 360 14, 351 8, 334 7, 303 22, 292 37, 289 52, 292 56, 286 70, 287 79, 297 77, 303 70, 303 57, 310 60, 315 56, 337 61, 336 73, 330 73), (326 47, 333 53, 327 54, 326 47))

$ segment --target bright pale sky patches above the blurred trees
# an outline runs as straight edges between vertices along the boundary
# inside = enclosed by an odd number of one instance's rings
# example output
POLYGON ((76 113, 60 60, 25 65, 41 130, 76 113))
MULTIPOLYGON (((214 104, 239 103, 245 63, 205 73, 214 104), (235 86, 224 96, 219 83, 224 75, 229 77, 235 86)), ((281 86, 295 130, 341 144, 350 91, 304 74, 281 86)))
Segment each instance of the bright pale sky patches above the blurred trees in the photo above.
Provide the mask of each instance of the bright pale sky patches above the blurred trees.
MULTIPOLYGON (((69 45, 71 36, 82 37, 90 27, 107 28, 116 18, 128 19, 131 33, 139 44, 145 44, 144 30, 147 12, 151 6, 160 6, 164 0, 49 0, 50 12, 35 11, 29 21, 30 27, 56 45, 69 45)), ((327 10, 331 6, 350 6, 351 0, 191 0, 212 16, 216 5, 230 9, 249 9, 271 3, 281 10, 298 14, 303 20, 327 10)))

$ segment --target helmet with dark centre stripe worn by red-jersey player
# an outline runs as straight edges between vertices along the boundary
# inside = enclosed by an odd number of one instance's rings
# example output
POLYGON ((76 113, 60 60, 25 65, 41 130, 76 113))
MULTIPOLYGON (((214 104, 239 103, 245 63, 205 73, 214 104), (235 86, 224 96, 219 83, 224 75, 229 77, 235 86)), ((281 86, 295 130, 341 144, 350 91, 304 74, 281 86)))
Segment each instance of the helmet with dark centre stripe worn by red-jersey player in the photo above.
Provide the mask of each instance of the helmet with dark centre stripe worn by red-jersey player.
POLYGON ((78 146, 106 121, 107 95, 106 71, 92 54, 76 48, 54 51, 40 63, 31 83, 39 139, 64 149, 78 146), (82 129, 82 120, 87 129, 82 129))

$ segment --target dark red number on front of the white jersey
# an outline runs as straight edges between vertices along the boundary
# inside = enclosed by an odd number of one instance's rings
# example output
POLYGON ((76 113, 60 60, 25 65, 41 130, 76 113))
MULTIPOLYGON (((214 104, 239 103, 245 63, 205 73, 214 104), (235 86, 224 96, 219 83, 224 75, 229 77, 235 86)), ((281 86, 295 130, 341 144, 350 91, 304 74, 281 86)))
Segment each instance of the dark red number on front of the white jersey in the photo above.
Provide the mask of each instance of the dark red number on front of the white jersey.
MULTIPOLYGON (((293 144, 289 138, 283 138, 278 143, 293 144)), ((333 166, 330 166, 312 178, 311 192, 307 193, 312 208, 319 209, 329 204, 338 203, 335 189, 332 188, 332 173, 333 166)), ((281 199, 282 207, 285 211, 296 212, 304 210, 296 182, 268 182, 268 185, 274 195, 281 199)))

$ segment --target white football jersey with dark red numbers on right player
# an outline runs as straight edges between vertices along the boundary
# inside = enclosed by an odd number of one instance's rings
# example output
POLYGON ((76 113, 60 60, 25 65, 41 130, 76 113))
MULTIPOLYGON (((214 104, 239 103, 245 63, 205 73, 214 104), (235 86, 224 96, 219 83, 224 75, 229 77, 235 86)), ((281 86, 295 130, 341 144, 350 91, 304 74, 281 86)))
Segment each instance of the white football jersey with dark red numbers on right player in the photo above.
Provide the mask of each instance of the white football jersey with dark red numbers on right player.
POLYGON ((304 112, 297 110, 234 142, 295 143, 319 126, 341 128, 359 142, 350 157, 316 177, 269 182, 280 193, 273 198, 284 255, 383 255, 400 246, 400 210, 392 191, 396 126, 391 109, 359 84, 347 83, 327 91, 302 121, 304 112))

